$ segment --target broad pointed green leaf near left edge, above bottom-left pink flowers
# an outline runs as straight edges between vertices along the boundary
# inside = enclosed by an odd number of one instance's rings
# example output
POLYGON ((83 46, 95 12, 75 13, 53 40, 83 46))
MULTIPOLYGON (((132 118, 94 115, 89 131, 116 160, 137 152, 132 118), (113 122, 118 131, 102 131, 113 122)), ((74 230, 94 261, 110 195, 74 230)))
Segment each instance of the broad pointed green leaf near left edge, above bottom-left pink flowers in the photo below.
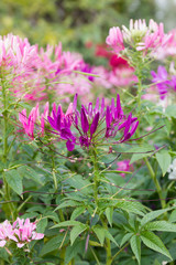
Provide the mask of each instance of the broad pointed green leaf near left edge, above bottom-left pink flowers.
POLYGON ((4 178, 10 186, 10 188, 16 192, 19 195, 23 192, 22 178, 16 169, 4 172, 4 178))

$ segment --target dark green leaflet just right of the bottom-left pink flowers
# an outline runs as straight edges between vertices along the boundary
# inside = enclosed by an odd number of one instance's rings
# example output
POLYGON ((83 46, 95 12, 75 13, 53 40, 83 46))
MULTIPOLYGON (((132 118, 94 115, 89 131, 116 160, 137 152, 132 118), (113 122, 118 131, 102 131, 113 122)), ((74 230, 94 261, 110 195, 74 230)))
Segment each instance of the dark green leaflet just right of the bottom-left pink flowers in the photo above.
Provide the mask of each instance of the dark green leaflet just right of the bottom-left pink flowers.
POLYGON ((58 250, 62 241, 64 239, 64 234, 58 234, 57 236, 53 237, 52 240, 47 241, 45 245, 43 246, 40 256, 44 256, 50 252, 53 252, 55 250, 58 250))

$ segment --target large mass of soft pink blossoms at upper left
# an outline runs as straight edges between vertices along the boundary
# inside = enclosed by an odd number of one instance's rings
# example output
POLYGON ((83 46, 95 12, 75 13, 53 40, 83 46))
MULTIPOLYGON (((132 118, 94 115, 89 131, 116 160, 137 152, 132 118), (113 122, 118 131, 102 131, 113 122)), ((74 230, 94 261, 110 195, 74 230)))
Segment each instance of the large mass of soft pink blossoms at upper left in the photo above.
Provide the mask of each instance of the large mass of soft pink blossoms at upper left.
POLYGON ((0 36, 0 51, 2 78, 9 81, 9 87, 18 98, 38 102, 47 99, 51 94, 85 95, 95 82, 91 76, 94 67, 80 54, 64 52, 61 43, 38 50, 28 39, 8 34, 0 36))

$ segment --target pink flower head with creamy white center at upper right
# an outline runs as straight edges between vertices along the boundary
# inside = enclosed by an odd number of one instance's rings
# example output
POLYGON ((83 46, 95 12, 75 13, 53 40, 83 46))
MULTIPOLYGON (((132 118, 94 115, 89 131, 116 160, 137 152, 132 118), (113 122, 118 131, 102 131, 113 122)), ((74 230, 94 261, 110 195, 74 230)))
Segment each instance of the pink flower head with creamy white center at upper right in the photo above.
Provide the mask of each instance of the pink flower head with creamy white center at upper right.
POLYGON ((119 26, 111 28, 106 42, 118 54, 129 45, 146 54, 148 51, 154 52, 157 47, 165 46, 170 38, 172 34, 164 33, 163 23, 157 24, 150 20, 146 25, 145 20, 130 20, 129 29, 124 25, 122 30, 119 26))

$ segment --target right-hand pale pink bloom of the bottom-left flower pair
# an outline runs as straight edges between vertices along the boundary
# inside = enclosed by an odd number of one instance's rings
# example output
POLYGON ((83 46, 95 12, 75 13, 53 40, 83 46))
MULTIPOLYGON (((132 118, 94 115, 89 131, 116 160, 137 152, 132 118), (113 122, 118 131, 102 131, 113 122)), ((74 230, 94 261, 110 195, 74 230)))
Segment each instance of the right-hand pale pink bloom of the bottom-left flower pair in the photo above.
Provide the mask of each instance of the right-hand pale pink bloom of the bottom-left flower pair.
POLYGON ((16 219, 13 223, 14 234, 18 239, 16 246, 19 248, 23 247, 26 243, 34 241, 34 240, 42 240, 44 234, 36 233, 36 223, 30 222, 30 219, 16 219))

